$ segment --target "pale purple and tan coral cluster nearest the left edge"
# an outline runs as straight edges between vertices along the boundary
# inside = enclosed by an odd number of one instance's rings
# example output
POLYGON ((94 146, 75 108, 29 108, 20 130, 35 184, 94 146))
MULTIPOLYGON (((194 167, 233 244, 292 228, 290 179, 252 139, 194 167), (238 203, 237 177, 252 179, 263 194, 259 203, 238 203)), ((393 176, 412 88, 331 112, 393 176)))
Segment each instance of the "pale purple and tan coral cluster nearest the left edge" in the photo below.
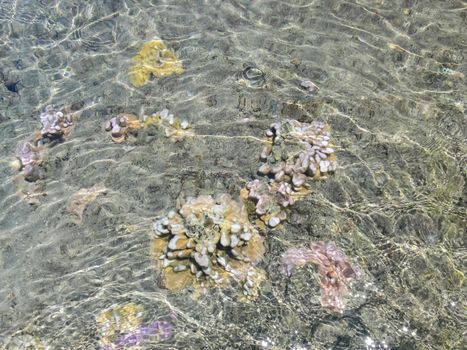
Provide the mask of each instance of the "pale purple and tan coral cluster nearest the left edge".
POLYGON ((34 182, 40 178, 43 153, 70 134, 78 115, 78 112, 68 108, 45 107, 39 116, 42 125, 40 132, 35 132, 15 152, 16 161, 12 166, 22 172, 26 181, 34 182))

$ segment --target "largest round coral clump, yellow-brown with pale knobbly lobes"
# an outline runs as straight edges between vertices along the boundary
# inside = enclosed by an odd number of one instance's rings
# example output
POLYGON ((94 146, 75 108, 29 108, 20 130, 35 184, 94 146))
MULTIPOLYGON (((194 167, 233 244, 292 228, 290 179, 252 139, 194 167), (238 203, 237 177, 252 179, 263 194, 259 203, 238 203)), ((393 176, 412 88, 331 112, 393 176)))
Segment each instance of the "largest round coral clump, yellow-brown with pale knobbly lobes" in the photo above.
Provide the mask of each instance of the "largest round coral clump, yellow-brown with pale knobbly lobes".
POLYGON ((171 278, 185 273, 215 284, 234 277, 247 284, 244 294, 256 293, 255 282, 248 278, 254 277, 252 268, 264 254, 263 239, 241 201, 227 194, 188 199, 178 212, 158 218, 154 232, 165 242, 159 258, 166 287, 171 278))

